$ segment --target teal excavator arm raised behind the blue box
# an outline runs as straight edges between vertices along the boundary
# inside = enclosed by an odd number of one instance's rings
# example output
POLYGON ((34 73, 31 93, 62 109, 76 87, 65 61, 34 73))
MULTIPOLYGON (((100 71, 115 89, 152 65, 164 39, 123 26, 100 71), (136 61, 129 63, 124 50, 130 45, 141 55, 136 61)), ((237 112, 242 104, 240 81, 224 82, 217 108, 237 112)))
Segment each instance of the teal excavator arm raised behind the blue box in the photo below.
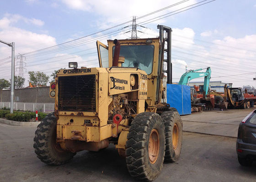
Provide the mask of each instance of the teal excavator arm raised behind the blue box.
POLYGON ((211 78, 211 68, 200 68, 197 70, 188 70, 186 73, 184 73, 181 76, 181 79, 179 81, 180 85, 188 85, 188 82, 192 79, 195 78, 200 78, 204 77, 204 84, 203 84, 203 98, 206 98, 206 95, 208 94, 208 89, 209 89, 209 83, 210 83, 210 78, 211 78), (205 72, 198 72, 206 69, 205 72))

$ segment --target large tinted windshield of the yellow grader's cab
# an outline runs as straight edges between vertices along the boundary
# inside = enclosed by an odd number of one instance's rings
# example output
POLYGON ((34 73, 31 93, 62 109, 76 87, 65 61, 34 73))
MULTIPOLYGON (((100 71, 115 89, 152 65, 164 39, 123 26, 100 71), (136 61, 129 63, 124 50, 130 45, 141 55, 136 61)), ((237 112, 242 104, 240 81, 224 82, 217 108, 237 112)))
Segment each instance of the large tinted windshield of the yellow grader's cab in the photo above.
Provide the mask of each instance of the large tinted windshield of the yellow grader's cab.
MULTIPOLYGON (((113 46, 113 56, 115 46, 113 46)), ((121 45, 120 56, 125 60, 122 67, 136 67, 146 71, 149 75, 152 72, 154 45, 121 45)))

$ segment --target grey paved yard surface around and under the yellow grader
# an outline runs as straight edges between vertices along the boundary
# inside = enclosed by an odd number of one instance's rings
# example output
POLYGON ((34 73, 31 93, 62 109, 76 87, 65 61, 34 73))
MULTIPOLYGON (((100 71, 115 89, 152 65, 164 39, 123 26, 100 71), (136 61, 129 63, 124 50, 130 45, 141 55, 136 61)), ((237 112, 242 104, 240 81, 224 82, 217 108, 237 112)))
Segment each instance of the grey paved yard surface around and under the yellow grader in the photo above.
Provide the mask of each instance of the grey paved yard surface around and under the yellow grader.
MULTIPOLYGON (((202 121, 203 125, 237 126, 250 111, 215 112, 182 116, 182 120, 186 120, 183 121, 184 128, 193 126, 191 121, 194 120, 202 121), (240 114, 236 116, 238 112, 240 114)), ((195 128, 198 128, 197 132, 202 129, 201 126, 195 128)), ((113 146, 101 152, 78 152, 70 163, 63 166, 45 165, 33 151, 35 130, 36 127, 0 124, 0 182, 134 181, 113 146)), ((237 162, 235 142, 236 139, 231 137, 183 132, 180 160, 165 163, 156 182, 256 181, 256 166, 241 167, 237 162)))

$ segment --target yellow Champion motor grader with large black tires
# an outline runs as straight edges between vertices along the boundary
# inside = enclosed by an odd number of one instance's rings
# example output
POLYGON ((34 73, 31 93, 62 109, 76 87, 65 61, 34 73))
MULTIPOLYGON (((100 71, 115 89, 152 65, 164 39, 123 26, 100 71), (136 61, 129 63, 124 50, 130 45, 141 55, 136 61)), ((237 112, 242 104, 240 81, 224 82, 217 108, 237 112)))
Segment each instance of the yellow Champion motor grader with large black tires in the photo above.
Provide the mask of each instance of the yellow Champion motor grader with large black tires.
POLYGON ((178 160, 181 118, 163 102, 163 77, 171 83, 171 28, 158 29, 159 38, 97 41, 98 68, 70 62, 71 69, 58 71, 49 92, 55 112, 34 137, 42 162, 64 164, 75 152, 113 143, 131 176, 152 181, 164 161, 178 160))

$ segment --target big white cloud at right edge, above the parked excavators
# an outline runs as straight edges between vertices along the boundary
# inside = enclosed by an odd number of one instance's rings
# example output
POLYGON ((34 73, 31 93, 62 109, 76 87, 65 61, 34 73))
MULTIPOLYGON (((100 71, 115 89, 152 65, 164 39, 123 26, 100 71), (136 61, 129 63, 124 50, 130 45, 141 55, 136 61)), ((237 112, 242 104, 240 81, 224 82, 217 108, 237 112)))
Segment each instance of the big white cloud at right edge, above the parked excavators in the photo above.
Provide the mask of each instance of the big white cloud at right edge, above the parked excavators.
POLYGON ((252 80, 255 75, 251 74, 214 78, 216 76, 255 72, 255 42, 256 35, 246 35, 242 38, 226 36, 222 40, 213 40, 214 44, 211 46, 207 56, 208 61, 210 61, 209 66, 211 64, 214 65, 212 68, 213 80, 233 82, 233 86, 255 85, 255 81, 252 80))

